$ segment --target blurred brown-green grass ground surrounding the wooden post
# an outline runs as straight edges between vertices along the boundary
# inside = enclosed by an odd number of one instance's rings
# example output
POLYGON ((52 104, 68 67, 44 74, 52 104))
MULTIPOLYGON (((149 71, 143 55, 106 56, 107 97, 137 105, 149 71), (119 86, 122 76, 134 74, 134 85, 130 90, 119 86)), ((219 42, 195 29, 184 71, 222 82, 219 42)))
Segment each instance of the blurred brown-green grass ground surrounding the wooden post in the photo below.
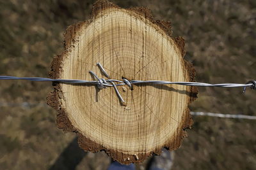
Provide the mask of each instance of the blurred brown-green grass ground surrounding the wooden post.
MULTIPOLYGON (((0 74, 47 77, 52 57, 63 50, 63 31, 86 20, 93 2, 0 0, 0 74)), ((255 0, 112 2, 124 8, 147 6, 156 19, 170 20, 173 36, 186 39, 185 57, 195 66, 196 81, 256 78, 255 0)), ((45 105, 51 90, 49 82, 0 82, 0 169, 49 169, 75 138, 57 129, 56 111, 45 105)), ((241 90, 200 88, 191 110, 256 115, 256 93, 241 90)), ((193 119, 188 138, 175 151, 173 169, 256 169, 255 121, 193 119)), ((104 152, 88 153, 76 169, 106 169, 109 162, 104 152)))

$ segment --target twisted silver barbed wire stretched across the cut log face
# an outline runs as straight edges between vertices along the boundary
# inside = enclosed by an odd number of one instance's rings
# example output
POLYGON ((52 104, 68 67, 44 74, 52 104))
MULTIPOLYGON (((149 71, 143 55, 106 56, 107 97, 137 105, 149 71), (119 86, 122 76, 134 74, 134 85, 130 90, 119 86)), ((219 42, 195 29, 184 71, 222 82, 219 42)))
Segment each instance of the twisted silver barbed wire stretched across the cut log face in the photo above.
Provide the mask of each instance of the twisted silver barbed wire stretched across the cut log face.
POLYGON ((198 82, 183 82, 183 81, 161 81, 161 80, 127 80, 126 78, 122 78, 122 80, 110 79, 109 74, 105 71, 104 67, 97 62, 97 66, 99 66, 100 71, 109 79, 99 78, 93 71, 89 71, 95 78, 94 81, 87 80, 72 80, 72 79, 52 79, 52 78, 40 78, 40 77, 16 77, 16 76, 0 76, 0 80, 29 80, 29 81, 53 81, 58 83, 72 83, 72 84, 90 84, 96 85, 99 89, 104 89, 107 87, 114 87, 117 96, 119 97, 122 104, 125 105, 125 101, 120 95, 120 92, 116 88, 119 85, 127 85, 130 89, 132 89, 132 85, 138 84, 154 84, 154 85, 186 85, 186 86, 197 86, 197 87, 243 87, 243 93, 246 91, 246 87, 250 87, 251 89, 256 89, 256 81, 251 80, 245 84, 239 83, 218 83, 218 84, 210 84, 210 83, 198 83, 198 82))

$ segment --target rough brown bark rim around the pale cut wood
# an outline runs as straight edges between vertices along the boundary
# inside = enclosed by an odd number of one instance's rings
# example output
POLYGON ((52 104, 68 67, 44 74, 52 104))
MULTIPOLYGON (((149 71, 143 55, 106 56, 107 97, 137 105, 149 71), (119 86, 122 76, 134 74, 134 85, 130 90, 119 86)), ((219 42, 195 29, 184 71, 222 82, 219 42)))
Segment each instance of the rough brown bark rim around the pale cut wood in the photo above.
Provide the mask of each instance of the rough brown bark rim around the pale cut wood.
MULTIPOLYGON (((71 25, 67 28, 67 31, 65 32, 65 40, 64 40, 64 46, 65 46, 65 52, 63 52, 61 55, 58 55, 54 57, 51 64, 51 71, 49 72, 50 78, 60 78, 61 73, 61 62, 63 60, 63 57, 65 57, 66 53, 70 48, 72 48, 72 44, 77 41, 77 37, 79 37, 79 29, 82 26, 86 26, 90 24, 103 10, 107 10, 108 8, 118 8, 120 7, 116 6, 113 3, 109 3, 109 1, 106 0, 100 0, 97 1, 95 4, 93 4, 92 13, 90 20, 87 20, 85 22, 78 22, 74 25, 71 25)), ((130 11, 134 11, 135 13, 138 13, 142 18, 145 17, 152 24, 158 25, 162 31, 166 33, 167 36, 170 36, 172 38, 172 29, 170 22, 166 21, 160 21, 160 20, 154 20, 152 17, 152 13, 148 8, 130 8, 128 9, 130 11)), ((182 57, 185 55, 184 50, 184 39, 183 38, 172 38, 175 42, 175 45, 180 50, 180 54, 182 57)), ((192 64, 184 60, 184 67, 186 68, 187 73, 189 74, 189 81, 195 81, 195 69, 193 68, 192 64)), ((52 83, 52 86, 54 87, 54 91, 51 92, 47 96, 47 104, 58 111, 57 114, 57 120, 56 124, 57 127, 60 129, 63 129, 65 132, 76 132, 78 137, 78 144, 79 147, 82 148, 84 151, 90 151, 90 152, 99 152, 104 150, 110 157, 113 158, 113 160, 118 160, 118 162, 122 164, 130 164, 130 163, 139 163, 143 162, 143 160, 147 159, 147 157, 152 156, 153 154, 159 155, 161 154, 162 148, 167 148, 168 150, 175 150, 180 147, 182 143, 182 139, 187 136, 186 129, 191 128, 191 125, 193 124, 193 120, 191 118, 191 115, 189 114, 189 108, 186 109, 186 113, 184 113, 184 118, 182 119, 184 122, 182 122, 182 127, 179 127, 179 131, 177 131, 177 134, 175 135, 176 138, 173 139, 173 141, 166 142, 163 146, 156 148, 155 150, 149 152, 149 153, 141 153, 140 155, 129 155, 122 152, 118 152, 116 150, 109 150, 108 148, 104 148, 104 146, 99 145, 98 143, 95 143, 89 138, 86 138, 86 136, 83 136, 81 132, 77 131, 76 128, 71 124, 70 120, 67 117, 67 113, 63 108, 61 108, 61 86, 59 83, 52 83)), ((191 87, 190 89, 190 101, 194 101, 196 99, 196 95, 198 93, 198 89, 196 87, 191 87)))

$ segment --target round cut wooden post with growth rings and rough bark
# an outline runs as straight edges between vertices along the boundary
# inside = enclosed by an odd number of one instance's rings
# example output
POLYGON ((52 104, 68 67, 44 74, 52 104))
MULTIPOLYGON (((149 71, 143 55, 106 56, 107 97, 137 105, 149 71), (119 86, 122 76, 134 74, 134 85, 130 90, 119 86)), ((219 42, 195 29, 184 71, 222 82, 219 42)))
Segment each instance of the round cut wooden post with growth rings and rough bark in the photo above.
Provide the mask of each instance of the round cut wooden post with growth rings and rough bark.
MULTIPOLYGON (((97 1, 90 20, 67 28, 64 43, 65 51, 52 61, 51 78, 94 80, 88 71, 104 77, 100 62, 111 79, 194 81, 195 71, 183 59, 184 39, 172 38, 170 22, 153 20, 147 8, 97 1)), ((195 87, 118 86, 126 106, 113 87, 53 87, 47 103, 58 111, 58 127, 76 132, 83 150, 104 150, 122 164, 142 162, 163 147, 178 148, 193 123, 188 105, 195 87)))

